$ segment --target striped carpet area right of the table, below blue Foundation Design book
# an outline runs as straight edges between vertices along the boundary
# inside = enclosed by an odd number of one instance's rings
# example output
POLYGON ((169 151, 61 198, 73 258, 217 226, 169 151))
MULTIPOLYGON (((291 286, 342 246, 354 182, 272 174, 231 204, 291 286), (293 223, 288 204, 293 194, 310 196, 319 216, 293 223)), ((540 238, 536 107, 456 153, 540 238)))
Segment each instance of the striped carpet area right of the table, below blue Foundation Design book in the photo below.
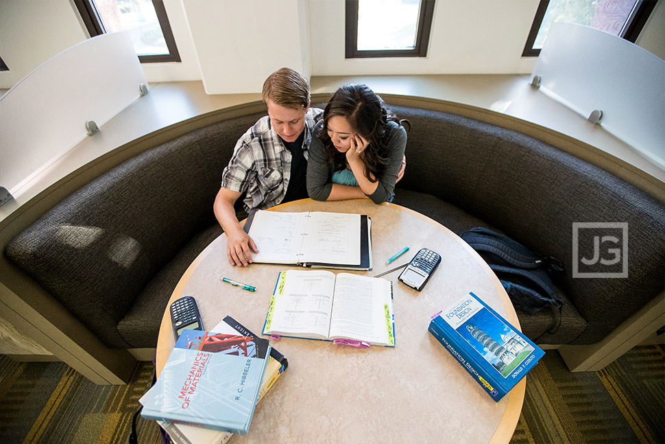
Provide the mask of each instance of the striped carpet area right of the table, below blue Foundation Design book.
POLYGON ((527 376, 511 440, 527 443, 665 443, 664 348, 635 347, 584 373, 570 373, 559 353, 547 351, 527 376))

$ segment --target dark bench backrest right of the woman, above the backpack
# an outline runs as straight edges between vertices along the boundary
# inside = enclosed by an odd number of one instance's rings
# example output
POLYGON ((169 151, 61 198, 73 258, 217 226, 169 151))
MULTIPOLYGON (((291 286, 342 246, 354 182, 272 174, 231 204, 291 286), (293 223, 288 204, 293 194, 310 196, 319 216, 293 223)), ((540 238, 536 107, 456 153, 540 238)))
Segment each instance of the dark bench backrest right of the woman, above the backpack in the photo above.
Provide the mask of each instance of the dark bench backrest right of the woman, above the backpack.
POLYGON ((411 122, 399 187, 431 194, 564 261, 561 289, 588 323, 572 344, 605 338, 665 289, 663 202, 519 132, 437 111, 391 109, 411 122), (627 278, 572 276, 575 222, 628 224, 627 278))

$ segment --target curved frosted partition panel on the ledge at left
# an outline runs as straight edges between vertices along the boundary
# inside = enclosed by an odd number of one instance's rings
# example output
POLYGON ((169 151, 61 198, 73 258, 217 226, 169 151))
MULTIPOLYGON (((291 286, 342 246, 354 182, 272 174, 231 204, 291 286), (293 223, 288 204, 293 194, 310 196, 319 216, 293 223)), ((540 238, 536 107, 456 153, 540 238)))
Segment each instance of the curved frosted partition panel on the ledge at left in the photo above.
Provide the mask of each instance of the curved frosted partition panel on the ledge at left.
POLYGON ((15 195, 88 137, 86 121, 101 127, 138 99, 142 83, 127 32, 89 38, 26 75, 0 98, 0 186, 15 195))

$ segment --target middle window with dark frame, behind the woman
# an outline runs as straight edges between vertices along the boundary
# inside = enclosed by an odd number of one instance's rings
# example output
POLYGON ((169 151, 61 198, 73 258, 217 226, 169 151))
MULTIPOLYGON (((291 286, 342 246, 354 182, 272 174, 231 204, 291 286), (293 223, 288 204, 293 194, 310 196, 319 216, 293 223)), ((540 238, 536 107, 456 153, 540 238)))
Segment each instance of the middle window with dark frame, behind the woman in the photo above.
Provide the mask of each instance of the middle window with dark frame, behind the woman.
POLYGON ((425 57, 435 0, 346 0, 346 58, 425 57))

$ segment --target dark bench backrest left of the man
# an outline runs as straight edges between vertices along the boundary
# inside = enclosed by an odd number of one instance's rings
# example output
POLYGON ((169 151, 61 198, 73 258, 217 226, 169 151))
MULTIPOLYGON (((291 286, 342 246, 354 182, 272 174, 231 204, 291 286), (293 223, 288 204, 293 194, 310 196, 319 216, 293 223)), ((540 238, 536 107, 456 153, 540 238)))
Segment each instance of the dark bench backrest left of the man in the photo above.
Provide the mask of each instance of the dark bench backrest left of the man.
MULTIPOLYGON (((220 121, 125 161, 45 213, 6 255, 108 346, 144 347, 146 340, 136 342, 139 322, 130 318, 124 334, 119 323, 167 264, 215 224, 223 168, 263 114, 220 121)), ((162 310, 169 296, 161 295, 162 310)))

